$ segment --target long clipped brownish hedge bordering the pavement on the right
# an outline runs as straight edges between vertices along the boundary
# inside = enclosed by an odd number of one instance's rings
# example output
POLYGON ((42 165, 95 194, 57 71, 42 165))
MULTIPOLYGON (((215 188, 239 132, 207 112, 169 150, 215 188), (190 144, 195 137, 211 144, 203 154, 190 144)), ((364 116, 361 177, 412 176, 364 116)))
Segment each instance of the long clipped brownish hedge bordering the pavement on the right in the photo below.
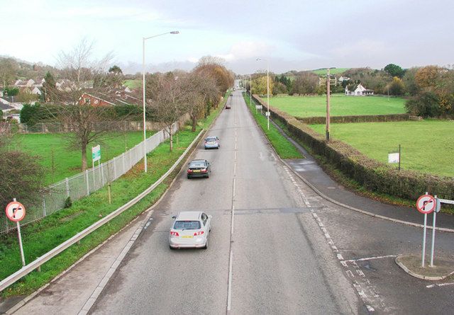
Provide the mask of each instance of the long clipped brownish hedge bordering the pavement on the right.
MULTIPOLYGON (((266 106, 260 97, 253 95, 253 98, 266 106)), ((324 156, 328 163, 367 190, 409 200, 416 200, 427 191, 443 199, 454 200, 454 178, 416 171, 398 171, 397 168, 370 159, 344 142, 333 139, 327 142, 323 135, 277 108, 270 106, 270 112, 273 119, 286 125, 289 132, 310 147, 314 154, 324 156)))

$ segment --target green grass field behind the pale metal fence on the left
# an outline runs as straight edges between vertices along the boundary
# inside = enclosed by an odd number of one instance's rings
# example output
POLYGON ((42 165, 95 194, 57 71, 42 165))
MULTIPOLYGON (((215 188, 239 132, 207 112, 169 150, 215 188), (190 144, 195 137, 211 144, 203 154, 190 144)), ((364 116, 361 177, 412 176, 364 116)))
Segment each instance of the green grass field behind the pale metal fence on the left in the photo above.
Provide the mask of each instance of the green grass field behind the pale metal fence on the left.
MULTIPOLYGON (((148 132, 150 137, 154 132, 148 132)), ((131 149, 143 140, 143 132, 114 132, 106 134, 101 144, 101 163, 109 161, 131 149)), ((18 134, 11 149, 26 151, 38 156, 39 163, 46 168, 45 183, 56 183, 81 172, 82 158, 79 150, 67 148, 65 134, 18 134), (53 159, 53 167, 52 167, 53 159)), ((98 144, 98 143, 96 143, 98 144)), ((87 164, 92 167, 92 146, 87 147, 87 164)))

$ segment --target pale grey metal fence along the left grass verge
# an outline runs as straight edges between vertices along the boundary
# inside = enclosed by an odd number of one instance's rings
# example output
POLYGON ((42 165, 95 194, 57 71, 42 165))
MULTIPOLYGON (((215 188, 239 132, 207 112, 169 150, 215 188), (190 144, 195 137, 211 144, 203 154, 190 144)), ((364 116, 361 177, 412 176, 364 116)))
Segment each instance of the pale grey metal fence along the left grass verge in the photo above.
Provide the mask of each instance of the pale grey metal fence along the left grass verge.
MULTIPOLYGON (((172 133, 177 132, 178 128, 179 122, 175 122, 172 125, 172 133)), ((42 219, 49 214, 61 210, 65 207, 67 197, 70 197, 72 201, 79 200, 103 188, 109 181, 115 181, 143 159, 144 149, 146 149, 147 153, 153 151, 153 149, 168 137, 168 129, 160 130, 153 134, 153 136, 145 139, 145 146, 143 142, 140 142, 140 144, 137 144, 132 149, 116 156, 110 161, 106 161, 99 166, 87 169, 83 173, 65 178, 63 181, 50 185, 47 192, 43 193, 39 202, 35 205, 26 205, 26 217, 21 221, 21 225, 42 219)), ((16 222, 11 222, 6 218, 6 215, 1 216, 1 218, 3 222, 0 223, 0 234, 6 233, 11 229, 16 229, 16 222)))

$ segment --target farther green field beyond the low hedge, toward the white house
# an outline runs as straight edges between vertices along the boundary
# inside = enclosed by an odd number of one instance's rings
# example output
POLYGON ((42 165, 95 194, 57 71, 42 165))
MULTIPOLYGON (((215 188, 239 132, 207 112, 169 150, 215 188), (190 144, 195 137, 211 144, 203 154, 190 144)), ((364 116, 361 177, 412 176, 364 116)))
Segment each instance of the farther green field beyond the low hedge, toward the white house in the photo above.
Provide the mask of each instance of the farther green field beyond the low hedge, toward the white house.
MULTIPOLYGON (((386 115, 405 112, 404 98, 383 96, 331 96, 331 116, 386 115)), ((326 115, 326 96, 275 96, 270 105, 296 117, 319 117, 326 115)))

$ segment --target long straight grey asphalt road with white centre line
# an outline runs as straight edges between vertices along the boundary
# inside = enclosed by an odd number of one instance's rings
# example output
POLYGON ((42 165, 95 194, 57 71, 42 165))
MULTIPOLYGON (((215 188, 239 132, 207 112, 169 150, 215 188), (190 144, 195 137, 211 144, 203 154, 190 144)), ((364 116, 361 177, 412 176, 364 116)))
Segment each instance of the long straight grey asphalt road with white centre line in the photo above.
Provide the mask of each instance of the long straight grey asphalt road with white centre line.
POLYGON ((210 178, 179 174, 92 314, 365 312, 316 220, 319 200, 276 159, 240 92, 228 101, 209 131, 221 148, 192 156, 212 162, 210 178), (208 249, 170 250, 182 210, 213 216, 208 249))

